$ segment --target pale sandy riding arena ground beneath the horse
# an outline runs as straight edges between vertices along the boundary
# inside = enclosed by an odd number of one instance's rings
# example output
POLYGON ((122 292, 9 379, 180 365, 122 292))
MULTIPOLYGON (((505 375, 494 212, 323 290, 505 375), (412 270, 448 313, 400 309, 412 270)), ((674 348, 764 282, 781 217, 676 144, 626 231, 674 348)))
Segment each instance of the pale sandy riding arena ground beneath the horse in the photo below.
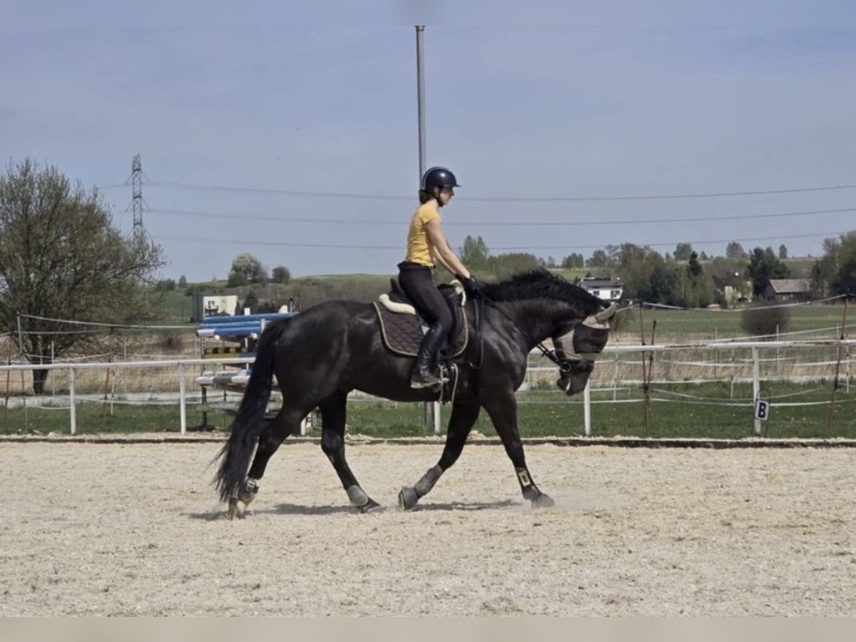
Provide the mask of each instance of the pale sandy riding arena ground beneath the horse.
POLYGON ((856 615, 853 449, 527 449, 556 507, 470 444, 352 444, 361 515, 310 443, 222 518, 215 443, 0 443, 2 615, 856 615))

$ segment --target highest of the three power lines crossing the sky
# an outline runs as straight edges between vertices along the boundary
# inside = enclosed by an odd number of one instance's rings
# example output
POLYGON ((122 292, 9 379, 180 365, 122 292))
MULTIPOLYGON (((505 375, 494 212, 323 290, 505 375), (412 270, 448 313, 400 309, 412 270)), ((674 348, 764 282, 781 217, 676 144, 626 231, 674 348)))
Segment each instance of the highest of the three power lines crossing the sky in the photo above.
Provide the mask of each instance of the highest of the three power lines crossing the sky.
MULTIPOLYGON (((183 183, 169 181, 149 181, 149 187, 164 187, 169 189, 208 190, 236 193, 270 193, 282 196, 300 196, 322 199, 359 199, 359 200, 396 200, 413 201, 413 196, 395 194, 372 194, 350 192, 321 192, 309 190, 279 189, 274 187, 237 187, 229 185, 204 185, 199 183, 183 183)), ((125 187, 105 185, 102 189, 125 187)), ((621 201, 621 200, 669 200, 669 199, 715 199, 734 196, 764 196, 770 194, 832 192, 856 188, 856 184, 826 185, 820 187, 790 187, 787 189, 758 189, 745 191, 701 192, 701 193, 671 193, 671 194, 635 194, 626 196, 461 196, 461 200, 480 203, 565 203, 584 201, 621 201)))

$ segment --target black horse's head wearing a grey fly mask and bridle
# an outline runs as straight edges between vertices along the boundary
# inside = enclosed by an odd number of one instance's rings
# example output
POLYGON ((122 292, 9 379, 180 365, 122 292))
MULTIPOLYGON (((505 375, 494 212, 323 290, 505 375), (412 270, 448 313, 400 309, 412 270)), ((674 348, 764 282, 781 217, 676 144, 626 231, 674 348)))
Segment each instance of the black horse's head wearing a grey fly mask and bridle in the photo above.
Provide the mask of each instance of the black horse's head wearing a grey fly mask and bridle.
POLYGON ((562 374, 556 382, 568 395, 586 388, 594 370, 594 360, 609 339, 609 319, 615 316, 618 304, 577 321, 570 330, 553 337, 556 354, 562 360, 562 374))

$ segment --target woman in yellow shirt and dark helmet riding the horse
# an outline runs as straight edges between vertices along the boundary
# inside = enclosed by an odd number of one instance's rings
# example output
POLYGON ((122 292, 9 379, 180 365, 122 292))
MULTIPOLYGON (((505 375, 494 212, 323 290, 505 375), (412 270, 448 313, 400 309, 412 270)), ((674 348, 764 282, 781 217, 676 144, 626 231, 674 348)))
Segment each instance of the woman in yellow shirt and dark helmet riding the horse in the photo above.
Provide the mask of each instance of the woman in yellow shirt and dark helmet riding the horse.
POLYGON ((419 188, 421 205, 410 220, 407 256, 398 264, 401 289, 429 324, 416 356, 416 365, 413 366, 411 388, 431 388, 441 383, 437 375, 431 372, 431 364, 452 327, 452 312, 431 280, 434 259, 461 281, 467 296, 475 298, 479 294, 479 283, 443 236, 440 208, 449 205, 455 196, 455 187, 461 186, 455 175, 445 167, 432 167, 422 176, 419 188))

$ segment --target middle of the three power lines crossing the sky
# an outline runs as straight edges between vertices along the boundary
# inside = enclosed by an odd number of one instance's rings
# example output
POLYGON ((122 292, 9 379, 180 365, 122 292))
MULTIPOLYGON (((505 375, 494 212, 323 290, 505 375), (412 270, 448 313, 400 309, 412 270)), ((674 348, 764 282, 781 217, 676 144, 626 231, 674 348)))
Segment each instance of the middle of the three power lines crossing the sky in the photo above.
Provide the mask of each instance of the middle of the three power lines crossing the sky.
MULTIPOLYGON (((171 208, 155 208, 150 210, 160 212, 162 214, 175 214, 176 216, 189 217, 207 217, 207 218, 231 218, 235 220, 246 221, 273 221, 277 223, 336 223, 337 225, 401 225, 407 226, 407 220, 383 220, 364 218, 359 220, 347 218, 329 218, 329 217, 280 217, 270 214, 229 214, 226 212, 214 211, 198 211, 198 210, 178 210, 171 208)), ((805 210, 805 211, 786 211, 770 214, 710 214, 703 217, 685 217, 685 218, 643 218, 643 219, 623 219, 616 221, 528 221, 528 222, 513 222, 503 223, 500 221, 467 221, 461 223, 456 221, 447 221, 444 226, 450 227, 594 227, 597 225, 633 225, 639 223, 692 223, 698 221, 742 221, 747 218, 782 218, 782 217, 806 217, 817 214, 841 214, 845 212, 856 211, 856 207, 842 207, 834 210, 805 210)))

